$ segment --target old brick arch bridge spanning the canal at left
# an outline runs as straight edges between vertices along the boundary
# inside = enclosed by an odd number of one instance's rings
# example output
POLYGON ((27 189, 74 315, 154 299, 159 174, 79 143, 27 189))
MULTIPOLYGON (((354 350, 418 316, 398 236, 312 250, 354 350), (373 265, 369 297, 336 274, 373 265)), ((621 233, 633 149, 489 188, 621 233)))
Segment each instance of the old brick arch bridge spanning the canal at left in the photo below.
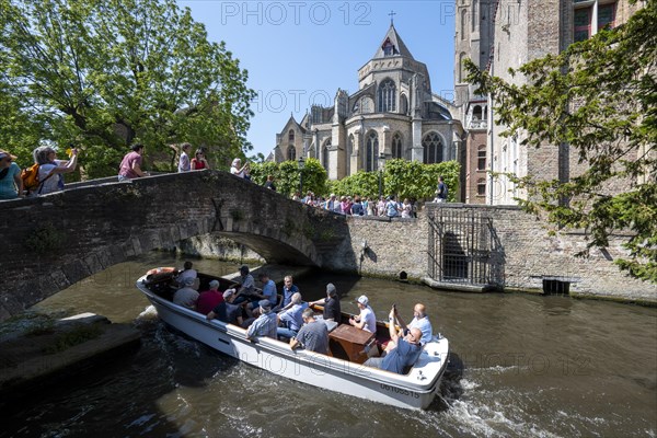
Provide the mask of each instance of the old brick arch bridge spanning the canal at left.
POLYGON ((0 203, 0 320, 158 247, 219 233, 268 263, 322 266, 349 239, 345 217, 308 207, 226 172, 70 184, 0 203))

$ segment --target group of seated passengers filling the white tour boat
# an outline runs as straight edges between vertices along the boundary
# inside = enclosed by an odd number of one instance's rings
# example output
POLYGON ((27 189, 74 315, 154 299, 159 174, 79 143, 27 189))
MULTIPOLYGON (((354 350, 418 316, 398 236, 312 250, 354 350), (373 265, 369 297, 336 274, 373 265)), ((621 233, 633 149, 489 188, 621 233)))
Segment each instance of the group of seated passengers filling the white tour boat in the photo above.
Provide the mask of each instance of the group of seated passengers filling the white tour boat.
MULTIPOLYGON (((192 262, 186 262, 177 275, 178 289, 173 302, 195 310, 208 321, 219 320, 246 330, 246 338, 270 337, 289 343, 291 349, 331 355, 330 331, 339 323, 353 330, 377 335, 377 316, 367 296, 359 296, 355 304, 359 313, 343 320, 341 297, 335 285, 326 285, 326 296, 316 301, 303 300, 299 287, 288 275, 280 293, 267 273, 258 275, 261 287, 256 287, 249 266, 240 267, 235 286, 219 290, 220 283, 211 280, 208 289, 198 292, 199 278, 192 262), (316 312, 318 306, 322 313, 316 312)), ((433 327, 423 303, 413 308, 413 320, 406 324, 393 304, 388 315, 389 339, 368 346, 366 366, 396 373, 406 373, 415 364, 422 347, 431 341, 433 327)), ((365 360, 365 359, 364 359, 365 360)))

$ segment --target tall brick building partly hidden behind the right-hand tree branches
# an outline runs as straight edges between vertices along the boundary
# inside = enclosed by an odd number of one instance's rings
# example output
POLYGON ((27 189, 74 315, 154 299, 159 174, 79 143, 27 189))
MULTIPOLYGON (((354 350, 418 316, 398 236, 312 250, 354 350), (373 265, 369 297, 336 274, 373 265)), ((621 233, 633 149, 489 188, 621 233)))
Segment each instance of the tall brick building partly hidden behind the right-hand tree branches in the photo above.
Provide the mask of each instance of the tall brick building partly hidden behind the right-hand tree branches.
POLYGON ((543 145, 535 149, 521 145, 522 132, 502 137, 499 134, 505 127, 494 122, 494 103, 476 95, 473 87, 465 82, 461 61, 470 58, 480 69, 520 85, 525 79, 511 78, 509 68, 517 69, 532 59, 558 54, 574 42, 591 37, 602 26, 622 24, 641 8, 639 3, 632 5, 627 0, 457 0, 454 103, 461 110, 459 117, 465 120, 468 132, 464 147, 468 201, 508 205, 515 204, 514 197, 525 196, 505 176, 493 177, 487 171, 565 182, 579 174, 586 163, 579 163, 576 151, 568 145, 543 145))

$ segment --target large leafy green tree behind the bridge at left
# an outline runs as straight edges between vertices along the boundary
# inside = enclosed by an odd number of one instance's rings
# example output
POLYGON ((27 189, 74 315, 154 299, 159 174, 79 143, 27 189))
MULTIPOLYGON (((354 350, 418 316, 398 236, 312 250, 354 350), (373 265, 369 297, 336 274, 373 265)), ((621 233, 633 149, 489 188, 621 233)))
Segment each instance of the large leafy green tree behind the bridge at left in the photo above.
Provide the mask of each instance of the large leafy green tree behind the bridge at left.
POLYGON ((150 161, 172 142, 221 163, 250 148, 246 71, 174 0, 0 0, 0 141, 23 165, 44 141, 76 142, 92 177, 136 141, 150 161))

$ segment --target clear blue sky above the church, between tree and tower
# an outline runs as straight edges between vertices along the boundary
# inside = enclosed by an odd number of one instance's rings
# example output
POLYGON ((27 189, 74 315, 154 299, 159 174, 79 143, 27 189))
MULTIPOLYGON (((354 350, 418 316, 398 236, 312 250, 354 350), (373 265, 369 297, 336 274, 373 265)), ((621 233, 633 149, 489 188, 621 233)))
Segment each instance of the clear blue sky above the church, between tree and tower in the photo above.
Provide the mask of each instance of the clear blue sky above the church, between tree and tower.
POLYGON ((454 1, 184 0, 210 41, 224 41, 257 96, 247 139, 267 155, 276 132, 310 105, 332 105, 338 88, 354 93, 358 69, 394 26, 427 65, 434 93, 453 99, 454 1))

